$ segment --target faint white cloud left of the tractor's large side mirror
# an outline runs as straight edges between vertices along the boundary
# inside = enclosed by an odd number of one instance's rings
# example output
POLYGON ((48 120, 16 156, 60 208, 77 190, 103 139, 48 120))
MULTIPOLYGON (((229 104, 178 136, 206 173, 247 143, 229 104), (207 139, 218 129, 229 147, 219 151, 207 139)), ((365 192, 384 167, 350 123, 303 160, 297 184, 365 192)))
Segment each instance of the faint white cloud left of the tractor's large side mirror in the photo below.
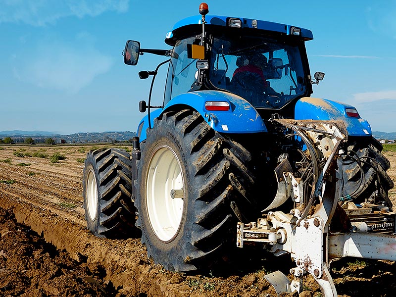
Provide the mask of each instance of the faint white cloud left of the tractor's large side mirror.
POLYGON ((14 77, 44 89, 77 93, 112 64, 111 57, 91 47, 53 43, 39 47, 30 56, 17 55, 14 77))

